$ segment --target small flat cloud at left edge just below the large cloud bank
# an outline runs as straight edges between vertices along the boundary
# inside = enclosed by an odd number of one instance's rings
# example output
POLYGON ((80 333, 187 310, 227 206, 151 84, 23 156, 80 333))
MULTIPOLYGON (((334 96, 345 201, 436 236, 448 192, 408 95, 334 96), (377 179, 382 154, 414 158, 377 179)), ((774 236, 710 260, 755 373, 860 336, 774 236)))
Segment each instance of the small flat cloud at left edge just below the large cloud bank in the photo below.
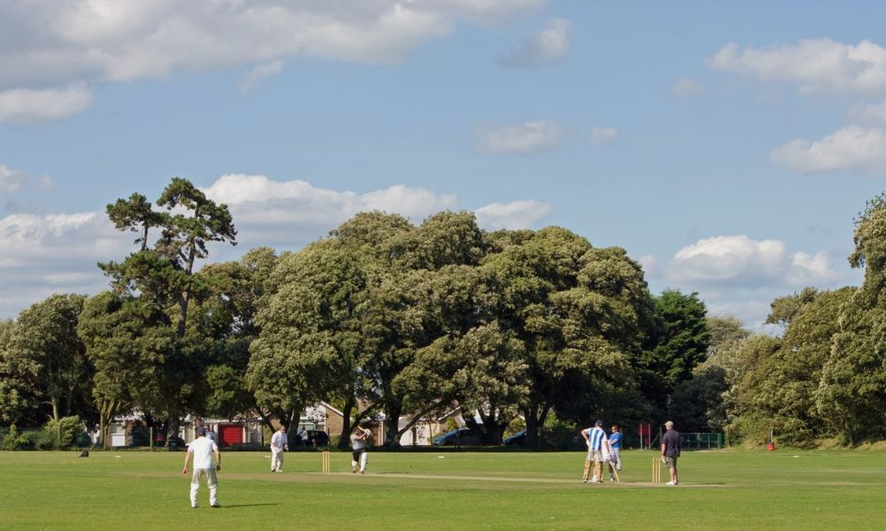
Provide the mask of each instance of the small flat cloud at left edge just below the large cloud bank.
POLYGON ((82 85, 66 89, 12 89, 0 92, 0 123, 65 119, 89 105, 92 93, 82 85))

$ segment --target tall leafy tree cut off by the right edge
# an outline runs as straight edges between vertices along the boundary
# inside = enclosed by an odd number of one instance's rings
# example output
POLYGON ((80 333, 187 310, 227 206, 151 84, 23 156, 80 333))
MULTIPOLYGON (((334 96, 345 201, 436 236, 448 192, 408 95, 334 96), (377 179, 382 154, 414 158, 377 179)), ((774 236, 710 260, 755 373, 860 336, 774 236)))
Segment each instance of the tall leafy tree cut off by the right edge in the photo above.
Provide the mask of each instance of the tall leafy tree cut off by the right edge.
POLYGON ((817 404, 852 443, 886 436, 886 194, 855 221, 852 267, 865 280, 843 305, 817 404))

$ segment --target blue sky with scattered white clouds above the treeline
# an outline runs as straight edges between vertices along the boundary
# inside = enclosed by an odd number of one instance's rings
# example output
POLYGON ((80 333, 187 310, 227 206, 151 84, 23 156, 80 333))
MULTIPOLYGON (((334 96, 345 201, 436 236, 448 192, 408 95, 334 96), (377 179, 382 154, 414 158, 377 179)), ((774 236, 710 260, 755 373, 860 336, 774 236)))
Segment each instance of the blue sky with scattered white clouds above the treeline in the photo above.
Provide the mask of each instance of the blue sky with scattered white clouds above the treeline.
POLYGON ((761 328, 859 285, 886 191, 886 4, 0 0, 0 319, 107 288, 105 205, 175 176, 237 246, 357 212, 561 226, 761 328))

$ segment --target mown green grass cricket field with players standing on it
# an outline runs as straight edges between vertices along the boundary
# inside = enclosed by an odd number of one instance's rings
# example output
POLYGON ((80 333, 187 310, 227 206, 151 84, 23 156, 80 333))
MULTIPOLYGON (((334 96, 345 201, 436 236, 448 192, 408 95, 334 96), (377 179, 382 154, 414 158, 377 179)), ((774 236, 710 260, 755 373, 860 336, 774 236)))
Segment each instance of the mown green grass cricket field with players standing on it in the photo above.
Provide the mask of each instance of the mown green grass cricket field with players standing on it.
MULTIPOLYGON (((648 451, 622 482, 580 482, 584 454, 228 452, 222 508, 188 502, 182 452, 0 452, 0 529, 886 529, 886 451, 685 452, 680 485, 650 483, 648 451)), ((662 472, 663 481, 667 473, 662 472)))

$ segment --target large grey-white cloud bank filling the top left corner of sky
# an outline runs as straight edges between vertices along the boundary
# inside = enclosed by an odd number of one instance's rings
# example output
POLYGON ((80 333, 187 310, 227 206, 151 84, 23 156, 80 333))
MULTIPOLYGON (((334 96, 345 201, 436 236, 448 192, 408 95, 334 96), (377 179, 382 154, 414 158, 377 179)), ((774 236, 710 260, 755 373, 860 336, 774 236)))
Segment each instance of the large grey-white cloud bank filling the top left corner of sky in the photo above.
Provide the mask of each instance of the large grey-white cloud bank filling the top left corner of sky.
POLYGON ((58 119, 82 111, 89 93, 63 89, 72 84, 255 65, 243 81, 248 87, 290 58, 385 63, 448 35, 459 20, 500 22, 543 1, 7 2, 0 17, 0 89, 7 90, 7 101, 35 114, 7 109, 5 119, 58 119), (35 102, 50 99, 51 108, 39 113, 42 105, 35 102))

